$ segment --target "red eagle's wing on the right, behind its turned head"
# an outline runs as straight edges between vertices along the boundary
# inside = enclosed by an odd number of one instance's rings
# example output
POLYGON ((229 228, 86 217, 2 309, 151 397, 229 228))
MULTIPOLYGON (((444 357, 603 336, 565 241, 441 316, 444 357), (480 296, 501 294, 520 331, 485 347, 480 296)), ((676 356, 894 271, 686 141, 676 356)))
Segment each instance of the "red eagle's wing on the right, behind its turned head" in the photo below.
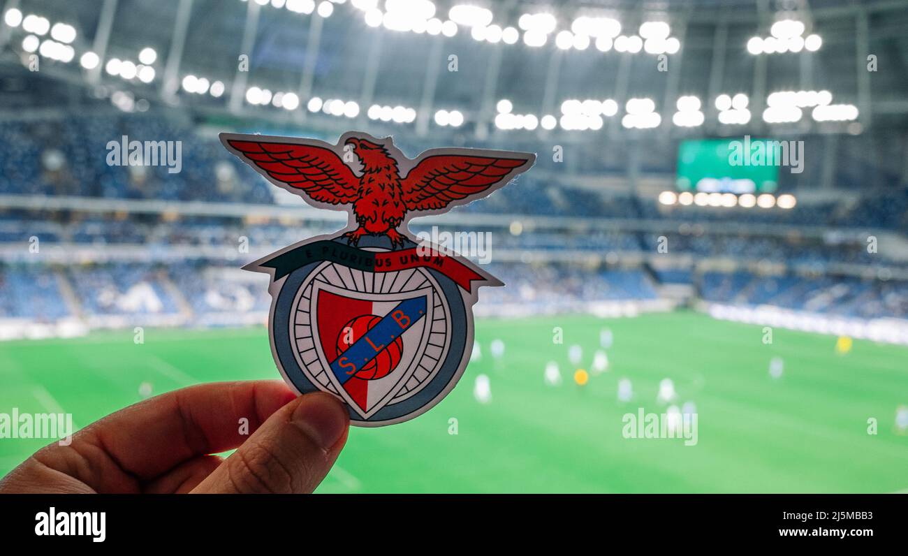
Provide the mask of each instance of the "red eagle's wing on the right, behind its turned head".
POLYGON ((436 210, 481 194, 532 160, 531 154, 508 154, 513 157, 434 154, 423 158, 401 184, 407 210, 436 210))

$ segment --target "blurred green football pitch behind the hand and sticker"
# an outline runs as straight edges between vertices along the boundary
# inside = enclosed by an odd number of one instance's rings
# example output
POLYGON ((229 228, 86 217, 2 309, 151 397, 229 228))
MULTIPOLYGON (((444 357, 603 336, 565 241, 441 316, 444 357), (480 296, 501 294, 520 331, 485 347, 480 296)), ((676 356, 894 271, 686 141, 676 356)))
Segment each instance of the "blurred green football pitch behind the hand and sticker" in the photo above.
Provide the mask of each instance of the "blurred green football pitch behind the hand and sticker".
MULTIPOLYGON (((908 349, 726 323, 699 313, 629 319, 586 315, 477 323, 481 357, 458 387, 419 418, 354 428, 321 492, 892 492, 908 488, 908 349), (553 328, 563 330, 563 343, 553 328), (568 347, 587 367, 609 328, 607 372, 574 382, 568 347), (489 344, 500 339, 495 360, 489 344), (785 370, 771 378, 769 362, 785 370), (544 380, 558 363, 560 385, 544 380), (479 374, 491 399, 474 397, 479 374), (617 382, 633 383, 618 402, 617 382), (696 445, 627 439, 623 416, 696 403, 696 445), (868 431, 877 421, 876 433, 868 431), (456 421, 454 421, 456 420, 456 421), (456 432, 456 433, 453 433, 456 432)), ((0 412, 71 412, 76 426, 196 382, 276 378, 263 328, 93 333, 71 340, 0 343, 0 412)), ((47 441, 0 439, 0 474, 47 441)))

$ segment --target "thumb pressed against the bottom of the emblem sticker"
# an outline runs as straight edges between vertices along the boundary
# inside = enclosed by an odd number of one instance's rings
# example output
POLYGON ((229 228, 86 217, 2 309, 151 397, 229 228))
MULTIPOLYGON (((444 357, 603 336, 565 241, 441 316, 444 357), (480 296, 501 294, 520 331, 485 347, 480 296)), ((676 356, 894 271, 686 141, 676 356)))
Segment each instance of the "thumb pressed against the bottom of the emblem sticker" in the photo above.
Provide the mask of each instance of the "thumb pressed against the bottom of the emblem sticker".
POLYGON ((311 492, 344 443, 350 415, 331 394, 308 393, 274 412, 193 492, 311 492))

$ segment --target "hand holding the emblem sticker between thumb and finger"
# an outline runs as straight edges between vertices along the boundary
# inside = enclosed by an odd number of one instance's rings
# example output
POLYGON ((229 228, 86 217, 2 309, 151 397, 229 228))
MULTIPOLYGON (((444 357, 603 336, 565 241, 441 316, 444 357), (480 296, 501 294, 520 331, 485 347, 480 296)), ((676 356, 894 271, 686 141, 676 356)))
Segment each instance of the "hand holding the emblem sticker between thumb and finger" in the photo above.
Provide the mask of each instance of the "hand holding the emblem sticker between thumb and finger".
POLYGON ((44 447, 4 492, 311 492, 350 426, 341 402, 283 382, 215 382, 136 403, 44 447), (241 420, 248 420, 248 435, 241 420), (211 455, 237 448, 226 460, 211 455))

